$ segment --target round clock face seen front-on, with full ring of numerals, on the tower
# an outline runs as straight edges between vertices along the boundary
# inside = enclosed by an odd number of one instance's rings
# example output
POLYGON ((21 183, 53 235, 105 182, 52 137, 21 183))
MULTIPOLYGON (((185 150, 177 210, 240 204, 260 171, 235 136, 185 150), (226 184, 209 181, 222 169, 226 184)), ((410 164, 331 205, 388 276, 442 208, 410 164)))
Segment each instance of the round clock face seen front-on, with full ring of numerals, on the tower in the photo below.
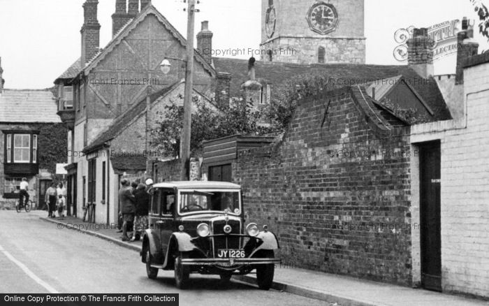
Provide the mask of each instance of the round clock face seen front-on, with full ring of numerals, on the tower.
POLYGON ((328 34, 334 31, 338 23, 338 13, 335 6, 329 3, 315 3, 309 8, 307 22, 312 31, 319 34, 328 34))

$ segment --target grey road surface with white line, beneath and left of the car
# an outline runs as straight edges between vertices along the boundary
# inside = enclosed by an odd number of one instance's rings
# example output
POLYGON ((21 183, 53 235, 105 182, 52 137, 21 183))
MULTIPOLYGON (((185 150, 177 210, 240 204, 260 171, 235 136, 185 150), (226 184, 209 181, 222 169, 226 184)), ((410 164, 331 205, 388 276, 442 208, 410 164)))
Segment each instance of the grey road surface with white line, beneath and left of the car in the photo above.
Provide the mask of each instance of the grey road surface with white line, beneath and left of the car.
POLYGON ((138 252, 59 229, 34 213, 0 211, 1 293, 180 293, 180 305, 326 305, 279 291, 261 291, 218 276, 191 275, 175 288, 173 271, 148 279, 138 252))

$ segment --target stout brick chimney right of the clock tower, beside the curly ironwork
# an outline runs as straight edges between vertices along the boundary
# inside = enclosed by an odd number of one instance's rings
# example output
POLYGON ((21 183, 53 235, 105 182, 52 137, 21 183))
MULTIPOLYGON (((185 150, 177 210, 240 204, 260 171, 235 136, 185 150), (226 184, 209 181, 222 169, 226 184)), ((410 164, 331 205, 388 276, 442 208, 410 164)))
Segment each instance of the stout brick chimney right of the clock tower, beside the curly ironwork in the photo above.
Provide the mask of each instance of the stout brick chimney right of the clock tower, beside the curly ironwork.
POLYGON ((407 62, 422 78, 433 75, 433 42, 428 29, 414 29, 413 37, 407 41, 407 62))

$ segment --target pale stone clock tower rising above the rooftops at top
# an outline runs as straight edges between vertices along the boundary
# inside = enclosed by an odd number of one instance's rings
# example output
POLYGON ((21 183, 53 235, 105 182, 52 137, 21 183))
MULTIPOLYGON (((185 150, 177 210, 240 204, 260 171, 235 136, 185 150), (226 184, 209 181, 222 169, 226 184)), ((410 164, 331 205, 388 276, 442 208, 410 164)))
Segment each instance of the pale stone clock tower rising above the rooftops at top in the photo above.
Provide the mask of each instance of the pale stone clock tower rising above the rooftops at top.
POLYGON ((365 0, 262 0, 261 60, 365 64, 365 0))

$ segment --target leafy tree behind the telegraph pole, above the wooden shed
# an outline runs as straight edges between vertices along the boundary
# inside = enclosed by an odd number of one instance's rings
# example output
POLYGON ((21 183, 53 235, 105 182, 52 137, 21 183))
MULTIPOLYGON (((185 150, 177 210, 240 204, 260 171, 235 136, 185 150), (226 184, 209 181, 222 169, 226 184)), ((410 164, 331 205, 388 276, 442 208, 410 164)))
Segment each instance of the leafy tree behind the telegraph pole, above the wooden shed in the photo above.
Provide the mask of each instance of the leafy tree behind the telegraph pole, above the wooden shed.
MULTIPOLYGON (((202 151, 203 140, 242 135, 263 135, 268 133, 268 127, 261 126, 260 113, 252 104, 235 101, 230 108, 216 108, 209 103, 193 98, 194 111, 191 116, 191 154, 202 151)), ((180 136, 182 134, 183 107, 173 101, 159 112, 158 127, 152 131, 152 147, 167 152, 168 156, 178 156, 180 153, 180 136)))

